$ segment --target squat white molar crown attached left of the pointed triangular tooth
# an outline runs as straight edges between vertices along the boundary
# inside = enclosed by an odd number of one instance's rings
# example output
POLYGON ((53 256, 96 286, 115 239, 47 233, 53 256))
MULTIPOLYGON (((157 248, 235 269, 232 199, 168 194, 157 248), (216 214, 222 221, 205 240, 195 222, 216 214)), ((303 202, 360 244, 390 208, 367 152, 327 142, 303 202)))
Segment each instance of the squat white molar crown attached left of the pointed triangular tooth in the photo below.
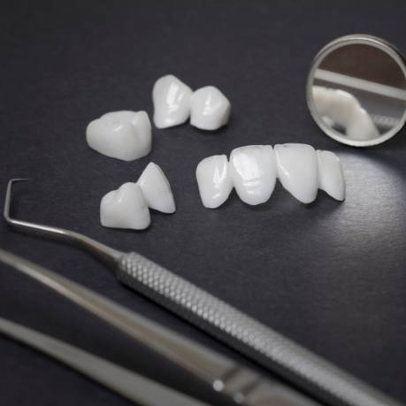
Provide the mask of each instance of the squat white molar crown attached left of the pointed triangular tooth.
POLYGON ((149 208, 139 185, 127 182, 104 195, 100 203, 102 226, 143 230, 150 224, 149 208))

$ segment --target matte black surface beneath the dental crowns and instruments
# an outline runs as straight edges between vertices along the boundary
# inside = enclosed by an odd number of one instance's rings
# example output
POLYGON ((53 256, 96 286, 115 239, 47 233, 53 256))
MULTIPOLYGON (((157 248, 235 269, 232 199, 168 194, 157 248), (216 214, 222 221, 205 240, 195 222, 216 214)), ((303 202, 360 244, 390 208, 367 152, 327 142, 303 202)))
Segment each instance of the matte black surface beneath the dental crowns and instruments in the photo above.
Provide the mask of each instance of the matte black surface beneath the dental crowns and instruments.
MULTIPOLYGON (((406 50, 405 17, 403 0, 4 2, 0 198, 9 178, 33 178, 18 187, 20 218, 137 250, 406 402, 405 131, 373 149, 341 146, 321 134, 304 100, 311 59, 326 42, 363 32, 406 50), (229 126, 154 129, 152 152, 132 163, 88 148, 85 128, 104 112, 151 116, 153 83, 166 73, 220 88, 233 104, 229 126), (232 195, 217 211, 203 208, 200 159, 278 142, 336 151, 346 202, 320 193, 304 206, 278 187, 259 207, 232 195), (149 161, 171 181, 176 214, 154 212, 145 232, 102 228, 100 198, 149 161)), ((4 224, 0 245, 233 354, 77 249, 4 224)), ((187 374, 3 265, 0 315, 219 404, 187 374)), ((128 404, 8 339, 0 355, 2 405, 128 404)))

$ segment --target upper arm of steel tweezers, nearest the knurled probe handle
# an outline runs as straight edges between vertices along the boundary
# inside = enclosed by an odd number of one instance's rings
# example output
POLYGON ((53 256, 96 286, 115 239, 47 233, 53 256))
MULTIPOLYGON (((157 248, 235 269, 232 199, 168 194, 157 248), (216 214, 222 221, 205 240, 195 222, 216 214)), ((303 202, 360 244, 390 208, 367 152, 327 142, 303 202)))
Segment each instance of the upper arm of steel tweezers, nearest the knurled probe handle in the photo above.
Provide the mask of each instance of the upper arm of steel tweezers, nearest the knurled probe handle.
MULTIPOLYGON (((0 249, 0 262, 49 287, 89 311, 110 326, 126 333, 149 349, 170 359, 212 389, 246 406, 317 406, 298 392, 265 379, 233 360, 191 341, 172 330, 143 318, 87 287, 68 280, 10 252, 0 249)), ((125 383, 124 383, 125 384, 125 383)), ((177 404, 168 402, 166 404, 177 404)))

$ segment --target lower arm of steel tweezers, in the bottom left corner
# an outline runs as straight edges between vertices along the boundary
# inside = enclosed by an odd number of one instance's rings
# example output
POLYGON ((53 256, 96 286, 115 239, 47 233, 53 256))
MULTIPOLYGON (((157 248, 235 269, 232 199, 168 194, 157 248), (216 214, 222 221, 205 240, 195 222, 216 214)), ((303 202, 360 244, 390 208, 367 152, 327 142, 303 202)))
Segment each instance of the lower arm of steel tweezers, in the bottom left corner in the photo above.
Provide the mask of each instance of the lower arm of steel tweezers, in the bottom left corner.
POLYGON ((0 318, 0 333, 37 349, 142 406, 208 406, 65 341, 0 318))

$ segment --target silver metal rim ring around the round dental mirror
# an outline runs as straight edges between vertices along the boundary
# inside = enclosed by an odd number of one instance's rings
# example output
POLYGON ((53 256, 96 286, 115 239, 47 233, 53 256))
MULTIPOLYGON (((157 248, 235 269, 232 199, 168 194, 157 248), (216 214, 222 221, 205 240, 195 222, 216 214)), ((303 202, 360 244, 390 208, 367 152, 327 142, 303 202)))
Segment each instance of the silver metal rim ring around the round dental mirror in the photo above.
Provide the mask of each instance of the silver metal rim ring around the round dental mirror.
POLYGON ((399 120, 399 123, 396 126, 394 126, 390 131, 388 131, 386 134, 382 134, 378 138, 375 138, 373 140, 356 141, 346 138, 344 135, 333 130, 333 128, 327 126, 326 123, 323 121, 323 119, 321 119, 321 117, 319 116, 316 105, 313 101, 313 90, 312 90, 313 80, 319 63, 323 60, 324 57, 326 57, 333 50, 337 50, 338 48, 341 48, 342 46, 349 44, 366 44, 386 52, 390 57, 392 57, 395 60, 395 62, 402 69, 402 73, 406 80, 405 58, 393 44, 379 37, 369 34, 345 35, 333 40, 332 42, 327 43, 326 46, 324 46, 321 50, 318 51, 316 57, 314 57, 306 81, 306 102, 309 107, 311 117, 316 121, 317 125, 321 128, 321 130, 328 136, 332 137, 335 141, 351 145, 353 147, 370 147, 372 145, 378 145, 382 142, 386 142, 402 129, 406 121, 406 109, 403 112, 402 119, 399 120))

